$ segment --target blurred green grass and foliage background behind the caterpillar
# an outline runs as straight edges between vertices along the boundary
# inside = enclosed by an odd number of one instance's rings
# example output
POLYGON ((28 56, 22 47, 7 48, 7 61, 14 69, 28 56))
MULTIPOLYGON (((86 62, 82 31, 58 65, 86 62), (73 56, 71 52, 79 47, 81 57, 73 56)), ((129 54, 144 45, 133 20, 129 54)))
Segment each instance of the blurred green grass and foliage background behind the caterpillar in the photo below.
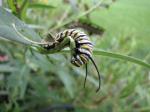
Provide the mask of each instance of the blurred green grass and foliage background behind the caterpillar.
MULTIPOLYGON (((98 49, 131 55, 150 63, 150 1, 0 0, 0 5, 39 33, 53 35, 80 27, 98 49), (64 25, 63 25, 64 24, 64 25)), ((8 32, 9 33, 9 32, 8 32)), ((38 38, 34 38, 35 40, 38 38)), ((108 57, 94 56, 102 74, 101 90, 89 64, 70 64, 69 54, 41 55, 24 45, 0 40, 0 112, 149 112, 150 71, 108 57)))

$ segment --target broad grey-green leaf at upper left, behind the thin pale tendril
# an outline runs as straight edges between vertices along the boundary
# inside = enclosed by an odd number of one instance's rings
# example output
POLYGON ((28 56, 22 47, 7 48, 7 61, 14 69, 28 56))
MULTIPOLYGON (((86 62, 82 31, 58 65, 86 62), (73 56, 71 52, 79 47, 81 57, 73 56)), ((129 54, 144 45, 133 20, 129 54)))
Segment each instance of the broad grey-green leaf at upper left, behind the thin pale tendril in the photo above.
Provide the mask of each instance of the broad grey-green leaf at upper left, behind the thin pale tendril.
POLYGON ((15 25, 16 29, 25 37, 39 41, 40 36, 38 34, 36 34, 32 29, 28 28, 24 22, 19 20, 13 14, 6 11, 6 9, 0 7, 0 37, 22 44, 31 45, 31 41, 22 38, 15 31, 13 24, 15 25))

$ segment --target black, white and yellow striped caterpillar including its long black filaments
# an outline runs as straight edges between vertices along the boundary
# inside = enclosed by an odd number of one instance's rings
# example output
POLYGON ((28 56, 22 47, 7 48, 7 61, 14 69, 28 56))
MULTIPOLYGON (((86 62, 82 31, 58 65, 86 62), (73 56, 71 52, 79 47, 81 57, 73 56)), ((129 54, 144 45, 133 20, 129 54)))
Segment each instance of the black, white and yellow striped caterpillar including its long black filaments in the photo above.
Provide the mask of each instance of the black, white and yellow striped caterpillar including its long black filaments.
MULTIPOLYGON (((48 36, 51 37, 50 34, 48 36)), ((67 37, 70 37, 70 40, 72 39, 73 42, 75 43, 75 47, 71 49, 72 51, 71 63, 76 67, 81 67, 82 65, 85 65, 86 76, 84 80, 84 87, 85 87, 87 71, 88 71, 87 63, 89 62, 89 60, 91 60, 91 62, 93 63, 99 78, 99 87, 96 90, 96 92, 98 92, 101 85, 101 77, 100 77, 98 67, 92 58, 93 44, 90 41, 89 37, 84 32, 81 32, 76 29, 65 30, 56 35, 53 44, 44 45, 44 48, 46 50, 51 50, 51 49, 58 48, 60 44, 63 44, 60 50, 62 50, 65 47, 70 47, 69 45, 71 44, 71 41, 65 41, 67 37)))

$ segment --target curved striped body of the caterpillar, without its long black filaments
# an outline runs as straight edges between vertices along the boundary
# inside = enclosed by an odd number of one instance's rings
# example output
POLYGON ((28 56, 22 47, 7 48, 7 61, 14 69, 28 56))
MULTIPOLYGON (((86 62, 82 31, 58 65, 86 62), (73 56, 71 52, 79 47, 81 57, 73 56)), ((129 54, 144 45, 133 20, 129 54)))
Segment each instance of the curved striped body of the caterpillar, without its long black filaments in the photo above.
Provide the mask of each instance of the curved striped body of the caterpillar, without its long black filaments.
POLYGON ((88 36, 81 31, 70 29, 59 33, 56 36, 56 40, 61 42, 67 36, 73 38, 76 44, 75 54, 71 56, 71 63, 77 67, 86 64, 89 60, 89 56, 92 56, 93 49, 93 45, 88 36))

